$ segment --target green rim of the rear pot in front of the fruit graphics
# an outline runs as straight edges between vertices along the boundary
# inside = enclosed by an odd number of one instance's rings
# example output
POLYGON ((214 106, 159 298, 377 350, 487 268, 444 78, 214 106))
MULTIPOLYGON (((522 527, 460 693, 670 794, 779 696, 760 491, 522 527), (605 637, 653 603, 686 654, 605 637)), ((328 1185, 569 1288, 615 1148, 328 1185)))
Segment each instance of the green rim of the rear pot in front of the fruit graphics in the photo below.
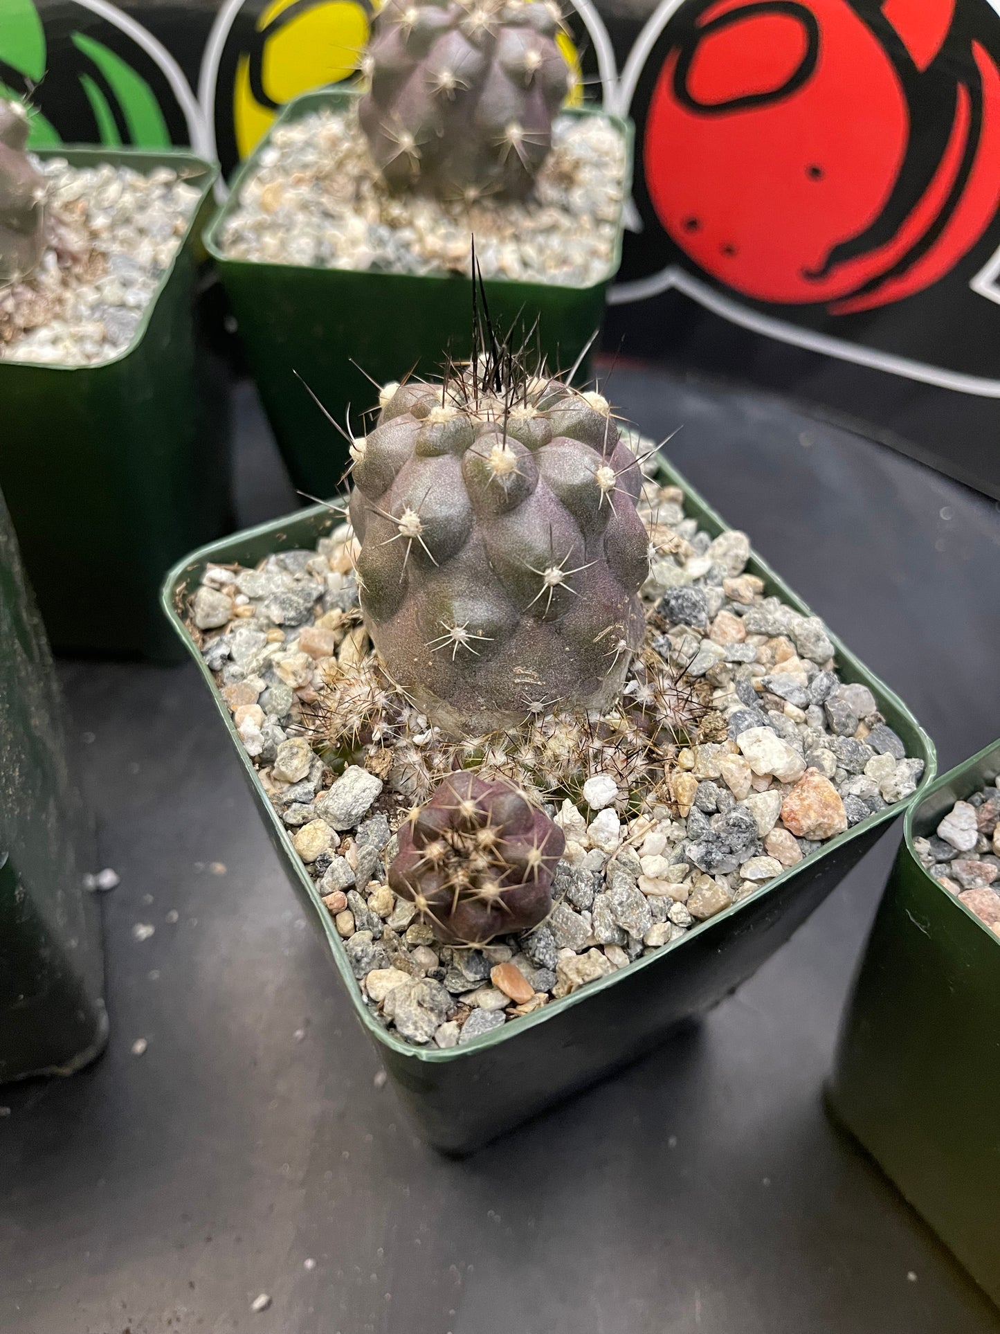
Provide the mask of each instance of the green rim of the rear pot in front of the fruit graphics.
MULTIPOLYGON (((344 88, 341 84, 332 84, 327 88, 313 88, 309 92, 300 93, 291 101, 285 103, 281 108, 279 116, 272 121, 268 132, 256 144, 253 152, 245 157, 229 181, 229 193, 225 201, 219 207, 208 225, 203 232, 203 241, 205 249, 212 256, 212 260, 220 267, 232 267, 244 271, 259 271, 261 268, 277 269, 280 272, 313 272, 313 273, 351 273, 363 277, 377 277, 377 279, 392 279, 392 277, 407 277, 416 283, 453 283, 456 279, 467 281, 467 275, 457 272, 443 272, 443 273, 399 273, 389 269, 369 269, 369 268, 341 268, 332 267, 329 264, 283 264, 275 263, 273 260, 256 260, 256 259, 232 259, 225 253, 221 247, 221 228, 225 221, 228 221, 231 213, 239 207, 240 191, 249 176, 257 169, 260 155, 269 145, 271 139, 276 129, 283 125, 288 125, 295 120, 301 120, 304 116, 313 111, 319 111, 323 107, 329 107, 335 111, 345 109, 352 101, 357 101, 361 96, 360 88, 344 88)), ((632 196, 632 152, 635 143, 635 127, 632 121, 625 116, 619 116, 612 111, 608 111, 603 105, 583 105, 583 107, 564 107, 560 115, 573 116, 580 120, 587 116, 603 116, 608 120, 621 135, 625 141, 625 171, 621 180, 621 200, 617 207, 617 216, 615 219, 615 248, 612 251, 611 259, 608 261, 607 272, 597 279, 596 283, 589 283, 585 287, 572 283, 548 283, 544 279, 512 279, 512 277, 487 277, 487 283, 503 283, 504 287, 509 287, 516 291, 517 288, 524 288, 525 293, 535 289, 548 291, 555 288, 559 292, 593 292, 605 287, 612 277, 617 273, 621 265, 621 240, 624 232, 624 212, 625 204, 632 196)))

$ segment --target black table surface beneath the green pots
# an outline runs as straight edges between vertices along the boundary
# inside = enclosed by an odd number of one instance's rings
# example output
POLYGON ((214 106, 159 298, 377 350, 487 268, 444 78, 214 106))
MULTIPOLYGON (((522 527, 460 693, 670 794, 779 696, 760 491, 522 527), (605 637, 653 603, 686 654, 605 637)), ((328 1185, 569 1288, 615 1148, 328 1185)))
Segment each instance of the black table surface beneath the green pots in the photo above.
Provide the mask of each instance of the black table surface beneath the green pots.
MULTIPOLYGON (((941 768, 1000 734, 997 504, 779 399, 639 367, 608 394, 657 439, 683 427, 677 467, 941 768)), ((236 407, 249 523, 295 499, 249 388, 236 407)), ((63 679, 121 876, 112 1035, 72 1079, 0 1089, 4 1334, 1000 1330, 821 1105, 899 826, 696 1030, 451 1162, 377 1078, 193 667, 63 679)))

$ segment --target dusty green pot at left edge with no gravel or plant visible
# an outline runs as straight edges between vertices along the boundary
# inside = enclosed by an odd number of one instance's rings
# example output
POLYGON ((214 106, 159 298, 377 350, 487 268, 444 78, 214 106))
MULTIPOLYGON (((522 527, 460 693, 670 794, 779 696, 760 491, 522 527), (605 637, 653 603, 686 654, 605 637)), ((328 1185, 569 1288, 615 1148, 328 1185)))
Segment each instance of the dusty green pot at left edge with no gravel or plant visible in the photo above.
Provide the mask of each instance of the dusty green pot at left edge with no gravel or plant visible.
POLYGON ((0 1082, 71 1074, 107 1041, 93 831, 0 496, 0 1082))

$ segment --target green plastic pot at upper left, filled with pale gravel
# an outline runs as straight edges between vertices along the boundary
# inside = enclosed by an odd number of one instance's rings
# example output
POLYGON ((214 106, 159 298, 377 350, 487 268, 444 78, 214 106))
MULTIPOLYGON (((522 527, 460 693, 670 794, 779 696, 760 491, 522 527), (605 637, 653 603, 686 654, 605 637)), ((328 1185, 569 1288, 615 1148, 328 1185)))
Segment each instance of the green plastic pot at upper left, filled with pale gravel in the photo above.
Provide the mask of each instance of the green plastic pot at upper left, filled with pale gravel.
POLYGON ((216 168, 176 151, 40 156, 172 167, 201 191, 183 245, 113 360, 0 362, 0 488, 52 646, 177 662, 157 607, 164 571, 231 527, 228 388, 193 309, 216 168))

